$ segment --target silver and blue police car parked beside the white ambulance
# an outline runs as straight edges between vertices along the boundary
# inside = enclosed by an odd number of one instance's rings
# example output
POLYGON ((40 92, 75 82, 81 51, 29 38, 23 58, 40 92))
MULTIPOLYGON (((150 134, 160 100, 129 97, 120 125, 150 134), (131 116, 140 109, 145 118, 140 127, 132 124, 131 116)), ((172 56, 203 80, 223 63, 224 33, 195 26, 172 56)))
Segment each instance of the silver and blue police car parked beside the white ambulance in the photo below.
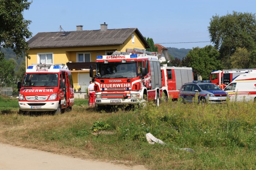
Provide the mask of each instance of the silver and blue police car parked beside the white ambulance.
POLYGON ((194 102, 195 95, 198 94, 198 102, 222 103, 226 102, 228 93, 220 89, 210 81, 193 81, 185 83, 179 91, 179 98, 183 102, 194 102))

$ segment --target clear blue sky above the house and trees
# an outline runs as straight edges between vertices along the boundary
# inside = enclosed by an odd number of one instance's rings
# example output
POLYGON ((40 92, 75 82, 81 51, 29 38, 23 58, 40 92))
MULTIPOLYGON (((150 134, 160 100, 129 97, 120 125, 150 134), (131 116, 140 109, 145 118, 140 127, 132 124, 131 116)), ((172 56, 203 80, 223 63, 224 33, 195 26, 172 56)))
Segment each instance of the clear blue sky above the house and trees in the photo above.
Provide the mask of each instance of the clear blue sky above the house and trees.
MULTIPOLYGON (((31 2, 31 0, 28 0, 31 2)), ((23 13, 32 36, 39 32, 137 28, 165 47, 213 45, 208 26, 215 15, 256 13, 256 0, 33 0, 23 13), (62 30, 62 31, 63 31, 62 30)))

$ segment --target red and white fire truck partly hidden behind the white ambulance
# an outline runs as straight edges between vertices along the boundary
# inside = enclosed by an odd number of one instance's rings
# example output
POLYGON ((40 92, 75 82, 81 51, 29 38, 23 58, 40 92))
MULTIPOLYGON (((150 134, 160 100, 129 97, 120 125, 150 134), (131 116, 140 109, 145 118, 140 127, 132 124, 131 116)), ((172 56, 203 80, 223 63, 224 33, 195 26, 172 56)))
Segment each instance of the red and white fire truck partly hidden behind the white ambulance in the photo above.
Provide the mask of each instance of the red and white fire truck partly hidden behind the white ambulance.
POLYGON ((212 83, 215 83, 218 86, 221 84, 221 81, 223 84, 228 85, 235 77, 239 76, 240 74, 253 71, 256 71, 256 68, 217 70, 211 72, 210 80, 212 83))

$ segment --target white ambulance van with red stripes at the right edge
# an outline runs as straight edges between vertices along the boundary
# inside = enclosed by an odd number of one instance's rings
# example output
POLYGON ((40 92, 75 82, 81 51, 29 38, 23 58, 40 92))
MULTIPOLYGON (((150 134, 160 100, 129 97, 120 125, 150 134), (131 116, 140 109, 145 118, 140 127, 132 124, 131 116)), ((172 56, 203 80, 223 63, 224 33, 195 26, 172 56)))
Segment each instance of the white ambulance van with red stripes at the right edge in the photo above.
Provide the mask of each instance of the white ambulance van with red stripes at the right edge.
POLYGON ((237 76, 227 87, 226 91, 231 101, 256 101, 256 72, 245 72, 237 76))

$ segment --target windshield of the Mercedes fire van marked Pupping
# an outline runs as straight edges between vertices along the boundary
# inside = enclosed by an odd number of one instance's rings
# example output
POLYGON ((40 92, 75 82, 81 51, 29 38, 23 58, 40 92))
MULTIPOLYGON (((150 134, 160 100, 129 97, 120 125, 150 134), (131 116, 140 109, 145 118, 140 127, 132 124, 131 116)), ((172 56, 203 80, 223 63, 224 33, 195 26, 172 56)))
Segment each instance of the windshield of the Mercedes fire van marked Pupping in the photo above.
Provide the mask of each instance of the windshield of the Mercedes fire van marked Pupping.
POLYGON ((25 75, 22 87, 57 87, 56 73, 29 73, 25 75))

